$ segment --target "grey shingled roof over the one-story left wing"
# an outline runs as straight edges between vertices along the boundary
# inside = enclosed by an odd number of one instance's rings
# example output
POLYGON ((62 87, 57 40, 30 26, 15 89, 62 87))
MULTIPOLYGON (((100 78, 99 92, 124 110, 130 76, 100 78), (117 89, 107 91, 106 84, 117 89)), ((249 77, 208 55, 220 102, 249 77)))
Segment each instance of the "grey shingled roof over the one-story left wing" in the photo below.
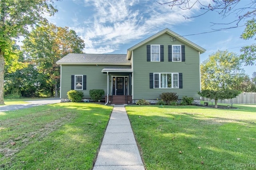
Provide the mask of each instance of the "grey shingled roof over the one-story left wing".
POLYGON ((126 54, 82 54, 69 53, 56 62, 57 64, 86 64, 86 65, 131 65, 126 54))

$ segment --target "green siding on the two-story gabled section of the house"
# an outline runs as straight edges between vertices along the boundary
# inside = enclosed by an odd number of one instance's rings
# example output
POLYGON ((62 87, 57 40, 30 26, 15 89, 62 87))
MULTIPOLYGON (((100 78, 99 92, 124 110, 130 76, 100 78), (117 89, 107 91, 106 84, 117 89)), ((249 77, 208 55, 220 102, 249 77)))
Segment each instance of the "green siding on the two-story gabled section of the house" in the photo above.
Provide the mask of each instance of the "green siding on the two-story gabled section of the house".
POLYGON ((170 41, 168 34, 138 47, 133 51, 133 96, 134 99, 159 99, 163 92, 177 93, 179 99, 182 96, 200 99, 197 94, 200 91, 200 60, 199 52, 190 46, 170 41), (164 62, 147 61, 147 45, 164 45, 164 62), (168 61, 168 45, 185 45, 185 62, 168 61), (149 73, 182 73, 182 89, 150 89, 149 73))

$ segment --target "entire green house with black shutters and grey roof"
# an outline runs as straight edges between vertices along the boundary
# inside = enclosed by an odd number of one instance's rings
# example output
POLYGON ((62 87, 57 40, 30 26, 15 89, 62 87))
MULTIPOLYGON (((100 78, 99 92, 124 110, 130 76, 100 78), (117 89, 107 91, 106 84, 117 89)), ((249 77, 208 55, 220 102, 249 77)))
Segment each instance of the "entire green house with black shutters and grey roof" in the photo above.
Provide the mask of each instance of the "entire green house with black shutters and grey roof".
POLYGON ((90 99, 90 89, 104 89, 105 101, 156 103, 164 92, 200 102, 200 54, 206 50, 168 28, 130 47, 127 54, 70 53, 61 65, 60 98, 71 89, 90 99))

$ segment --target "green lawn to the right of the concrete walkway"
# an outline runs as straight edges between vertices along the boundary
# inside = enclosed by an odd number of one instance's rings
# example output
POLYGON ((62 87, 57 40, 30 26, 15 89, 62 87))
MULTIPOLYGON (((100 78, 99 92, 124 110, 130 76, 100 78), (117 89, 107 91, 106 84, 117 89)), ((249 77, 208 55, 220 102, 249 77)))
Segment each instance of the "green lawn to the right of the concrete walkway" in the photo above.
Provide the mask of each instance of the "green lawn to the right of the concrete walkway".
POLYGON ((126 106, 147 170, 256 164, 256 107, 126 106), (238 140, 240 139, 240 140, 238 140))

